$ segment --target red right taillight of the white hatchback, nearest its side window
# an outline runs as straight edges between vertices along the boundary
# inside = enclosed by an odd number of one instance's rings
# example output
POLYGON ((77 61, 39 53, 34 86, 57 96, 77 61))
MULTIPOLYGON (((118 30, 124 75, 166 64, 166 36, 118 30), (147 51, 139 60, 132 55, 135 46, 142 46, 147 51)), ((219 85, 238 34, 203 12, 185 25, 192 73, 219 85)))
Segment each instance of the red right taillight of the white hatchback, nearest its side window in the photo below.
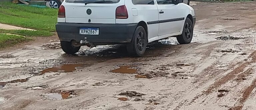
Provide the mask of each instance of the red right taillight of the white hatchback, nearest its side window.
POLYGON ((128 12, 125 5, 116 8, 116 19, 127 19, 128 12))

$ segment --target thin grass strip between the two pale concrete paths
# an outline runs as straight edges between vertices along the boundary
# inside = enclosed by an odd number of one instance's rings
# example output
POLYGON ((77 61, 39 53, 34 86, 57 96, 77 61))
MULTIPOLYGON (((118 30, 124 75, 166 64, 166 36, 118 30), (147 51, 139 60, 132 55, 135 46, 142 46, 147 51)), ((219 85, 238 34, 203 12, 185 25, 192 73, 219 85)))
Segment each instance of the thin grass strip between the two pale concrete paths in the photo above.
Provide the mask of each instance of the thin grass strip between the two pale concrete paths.
POLYGON ((11 34, 17 34, 17 35, 22 35, 26 37, 49 37, 53 36, 54 33, 51 33, 49 31, 30 31, 30 30, 5 30, 5 29, 0 29, 0 33, 11 33, 11 34))

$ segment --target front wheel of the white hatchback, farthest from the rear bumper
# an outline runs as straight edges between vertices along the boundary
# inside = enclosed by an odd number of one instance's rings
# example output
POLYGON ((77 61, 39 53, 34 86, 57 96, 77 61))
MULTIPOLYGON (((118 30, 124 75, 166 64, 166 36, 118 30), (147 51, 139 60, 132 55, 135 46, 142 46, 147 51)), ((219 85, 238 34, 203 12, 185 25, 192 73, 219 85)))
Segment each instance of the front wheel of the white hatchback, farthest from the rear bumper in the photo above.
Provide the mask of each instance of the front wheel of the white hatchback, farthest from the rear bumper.
POLYGON ((179 44, 188 44, 193 38, 193 23, 189 18, 186 18, 182 34, 177 36, 179 44))

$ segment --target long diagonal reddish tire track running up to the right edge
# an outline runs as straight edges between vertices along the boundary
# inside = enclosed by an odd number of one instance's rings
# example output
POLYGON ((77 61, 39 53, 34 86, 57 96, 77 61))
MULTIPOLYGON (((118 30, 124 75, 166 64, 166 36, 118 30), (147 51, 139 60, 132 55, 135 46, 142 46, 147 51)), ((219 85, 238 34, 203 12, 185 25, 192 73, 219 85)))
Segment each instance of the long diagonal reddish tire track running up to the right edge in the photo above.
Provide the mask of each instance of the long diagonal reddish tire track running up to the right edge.
MULTIPOLYGON (((238 67, 236 67, 234 70, 232 70, 231 72, 229 72, 227 75, 225 75, 224 77, 222 77, 221 79, 215 81, 212 85, 210 85, 208 87, 208 89, 206 89, 206 91, 203 91, 202 94, 199 94, 197 96, 195 96, 191 102, 189 103, 190 105, 195 102, 196 99, 198 99, 199 97, 202 97, 204 95, 209 95, 212 92, 214 92, 217 88, 219 88, 221 85, 225 84, 226 82, 228 82, 229 80, 234 79, 235 77, 238 76, 239 73, 243 72, 244 69, 250 65, 251 63, 254 63, 256 61, 256 51, 253 51, 250 55, 249 58, 251 58, 251 61, 246 61, 244 63, 242 63, 241 65, 239 65, 238 67)), ((244 72, 245 73, 245 72, 244 72)), ((242 73, 243 74, 243 73, 242 73)))

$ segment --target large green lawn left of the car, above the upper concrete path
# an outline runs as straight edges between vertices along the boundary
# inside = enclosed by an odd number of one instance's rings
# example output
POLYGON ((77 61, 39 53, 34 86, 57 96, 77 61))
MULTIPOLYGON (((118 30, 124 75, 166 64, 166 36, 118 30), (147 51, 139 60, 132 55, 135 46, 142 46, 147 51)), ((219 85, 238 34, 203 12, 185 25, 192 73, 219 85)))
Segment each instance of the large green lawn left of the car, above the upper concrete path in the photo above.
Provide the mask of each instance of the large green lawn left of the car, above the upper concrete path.
POLYGON ((58 9, 0 2, 0 23, 55 32, 58 9))

